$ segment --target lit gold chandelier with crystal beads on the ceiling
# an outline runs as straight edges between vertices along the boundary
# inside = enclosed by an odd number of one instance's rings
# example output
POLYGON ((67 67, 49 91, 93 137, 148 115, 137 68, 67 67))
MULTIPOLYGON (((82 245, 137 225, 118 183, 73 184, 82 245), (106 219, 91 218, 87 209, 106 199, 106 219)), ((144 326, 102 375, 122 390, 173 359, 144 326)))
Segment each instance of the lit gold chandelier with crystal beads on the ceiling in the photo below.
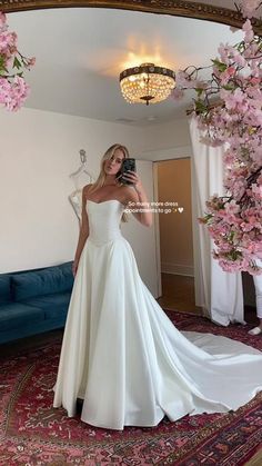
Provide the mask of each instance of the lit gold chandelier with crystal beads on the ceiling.
POLYGON ((119 77, 121 92, 129 103, 157 103, 167 99, 175 86, 174 71, 142 63, 128 68, 119 77))

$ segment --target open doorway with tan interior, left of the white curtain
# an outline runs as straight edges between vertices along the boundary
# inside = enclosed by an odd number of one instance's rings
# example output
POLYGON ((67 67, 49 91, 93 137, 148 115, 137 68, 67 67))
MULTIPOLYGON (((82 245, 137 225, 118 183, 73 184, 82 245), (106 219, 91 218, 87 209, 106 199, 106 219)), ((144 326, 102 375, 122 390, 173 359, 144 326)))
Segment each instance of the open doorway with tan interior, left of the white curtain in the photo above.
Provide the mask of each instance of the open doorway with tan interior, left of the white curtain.
POLYGON ((165 309, 200 313, 194 304, 190 157, 158 161, 159 242, 165 309))

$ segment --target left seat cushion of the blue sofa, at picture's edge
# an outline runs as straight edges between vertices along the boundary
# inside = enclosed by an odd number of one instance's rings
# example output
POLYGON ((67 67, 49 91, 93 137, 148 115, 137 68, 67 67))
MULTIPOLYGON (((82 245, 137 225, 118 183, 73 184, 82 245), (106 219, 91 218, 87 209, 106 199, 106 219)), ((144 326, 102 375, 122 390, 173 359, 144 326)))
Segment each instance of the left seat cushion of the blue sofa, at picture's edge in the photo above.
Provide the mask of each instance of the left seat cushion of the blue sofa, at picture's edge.
POLYGON ((44 320, 44 311, 21 303, 0 306, 0 333, 44 320))

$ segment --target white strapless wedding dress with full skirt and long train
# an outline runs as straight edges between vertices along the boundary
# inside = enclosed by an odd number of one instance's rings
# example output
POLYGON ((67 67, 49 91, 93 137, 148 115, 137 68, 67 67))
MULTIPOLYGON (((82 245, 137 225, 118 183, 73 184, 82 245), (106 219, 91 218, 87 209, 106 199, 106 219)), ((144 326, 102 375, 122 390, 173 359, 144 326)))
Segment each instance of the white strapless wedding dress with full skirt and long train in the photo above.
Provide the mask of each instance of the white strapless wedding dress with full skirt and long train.
POLYGON ((124 206, 88 200, 90 235, 74 279, 53 406, 93 426, 155 426, 238 409, 262 389, 262 353, 180 333, 140 278, 120 230, 124 206), (192 343, 192 341, 193 343, 192 343))

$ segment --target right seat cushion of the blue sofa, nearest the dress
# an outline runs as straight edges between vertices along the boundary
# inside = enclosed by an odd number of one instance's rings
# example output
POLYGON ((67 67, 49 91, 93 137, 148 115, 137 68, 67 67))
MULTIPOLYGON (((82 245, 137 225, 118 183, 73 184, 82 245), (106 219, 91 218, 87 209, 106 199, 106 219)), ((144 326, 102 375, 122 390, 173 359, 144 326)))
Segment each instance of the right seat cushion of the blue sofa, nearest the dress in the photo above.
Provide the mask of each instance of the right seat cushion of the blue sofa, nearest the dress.
POLYGON ((57 293, 54 295, 36 296, 23 304, 40 307, 44 311, 46 319, 53 319, 59 315, 67 314, 71 293, 57 293))

